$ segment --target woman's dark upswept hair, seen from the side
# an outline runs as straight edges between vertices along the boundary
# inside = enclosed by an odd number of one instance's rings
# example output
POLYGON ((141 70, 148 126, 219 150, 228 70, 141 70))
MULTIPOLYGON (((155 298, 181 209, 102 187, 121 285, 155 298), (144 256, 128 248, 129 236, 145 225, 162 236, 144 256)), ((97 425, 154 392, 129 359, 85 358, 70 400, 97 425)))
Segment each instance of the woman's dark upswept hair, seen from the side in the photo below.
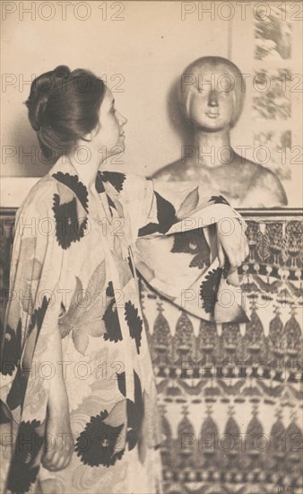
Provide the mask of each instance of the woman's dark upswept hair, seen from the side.
POLYGON ((106 86, 91 71, 68 66, 36 77, 25 104, 44 158, 50 163, 73 150, 77 140, 97 128, 106 86))

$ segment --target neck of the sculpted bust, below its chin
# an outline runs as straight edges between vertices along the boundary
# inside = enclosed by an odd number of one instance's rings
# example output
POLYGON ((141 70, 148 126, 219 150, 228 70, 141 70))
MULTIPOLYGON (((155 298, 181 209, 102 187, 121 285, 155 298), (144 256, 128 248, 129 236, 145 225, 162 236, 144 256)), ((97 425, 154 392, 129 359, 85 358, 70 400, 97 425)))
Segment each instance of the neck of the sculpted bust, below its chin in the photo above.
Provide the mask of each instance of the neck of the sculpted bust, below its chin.
POLYGON ((196 163, 215 168, 227 163, 230 156, 229 128, 216 132, 197 129, 194 137, 196 163))

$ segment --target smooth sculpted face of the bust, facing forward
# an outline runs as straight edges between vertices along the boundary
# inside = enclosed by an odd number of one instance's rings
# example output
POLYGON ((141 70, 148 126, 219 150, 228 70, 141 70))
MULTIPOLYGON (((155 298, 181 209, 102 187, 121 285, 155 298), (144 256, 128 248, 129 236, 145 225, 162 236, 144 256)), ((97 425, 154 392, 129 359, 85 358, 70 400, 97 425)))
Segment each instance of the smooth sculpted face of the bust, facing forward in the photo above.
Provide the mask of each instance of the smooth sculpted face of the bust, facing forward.
POLYGON ((235 75, 224 65, 205 65, 193 71, 186 86, 186 115, 195 127, 214 132, 229 128, 235 110, 235 75))

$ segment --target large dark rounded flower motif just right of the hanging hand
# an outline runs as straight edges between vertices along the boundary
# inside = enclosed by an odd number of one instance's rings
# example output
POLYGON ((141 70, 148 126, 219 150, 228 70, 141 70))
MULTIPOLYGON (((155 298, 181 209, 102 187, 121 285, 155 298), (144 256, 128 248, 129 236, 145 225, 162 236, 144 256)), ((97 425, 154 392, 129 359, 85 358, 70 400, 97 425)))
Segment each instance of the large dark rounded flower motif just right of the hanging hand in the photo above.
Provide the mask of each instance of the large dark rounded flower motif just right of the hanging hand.
POLYGON ((110 466, 120 460, 124 454, 124 449, 115 453, 117 442, 123 424, 112 427, 105 423, 108 418, 108 410, 100 412, 100 415, 91 417, 85 429, 77 437, 74 447, 75 452, 80 457, 82 463, 91 466, 110 466), (89 447, 88 447, 89 445, 89 447))

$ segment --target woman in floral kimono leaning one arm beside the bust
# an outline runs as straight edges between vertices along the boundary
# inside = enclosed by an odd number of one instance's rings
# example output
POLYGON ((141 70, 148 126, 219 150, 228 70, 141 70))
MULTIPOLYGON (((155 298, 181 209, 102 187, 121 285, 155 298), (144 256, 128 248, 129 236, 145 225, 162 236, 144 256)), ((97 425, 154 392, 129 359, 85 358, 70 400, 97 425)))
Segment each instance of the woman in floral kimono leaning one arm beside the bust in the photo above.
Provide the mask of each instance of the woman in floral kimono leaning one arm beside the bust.
MULTIPOLYGON (((203 185, 154 190, 152 181, 105 171, 106 159, 124 149, 126 119, 91 72, 58 66, 35 79, 26 104, 55 164, 16 217, 1 375, 13 431, 3 449, 4 490, 161 492, 161 433, 134 256, 152 286, 179 303, 179 292, 193 285, 189 278, 180 285, 186 263, 180 259, 176 289, 159 266, 152 270, 152 252, 160 246, 167 264, 182 218, 202 217, 203 226, 217 223, 211 268, 218 258, 223 268, 226 254, 232 276, 247 256, 238 213, 203 185), (228 235, 219 227, 227 216, 228 235)), ((210 305, 215 311, 217 298, 190 306, 207 317, 210 305)), ((237 304, 234 310, 232 317, 243 315, 237 304)))

